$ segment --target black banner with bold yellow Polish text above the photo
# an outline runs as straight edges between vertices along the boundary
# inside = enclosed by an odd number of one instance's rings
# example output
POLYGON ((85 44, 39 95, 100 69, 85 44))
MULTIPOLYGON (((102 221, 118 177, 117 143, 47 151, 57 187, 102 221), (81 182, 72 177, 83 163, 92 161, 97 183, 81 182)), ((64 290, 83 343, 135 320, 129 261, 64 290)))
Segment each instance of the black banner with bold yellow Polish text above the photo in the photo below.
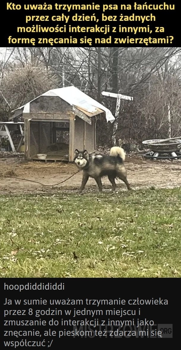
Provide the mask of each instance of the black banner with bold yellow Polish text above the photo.
POLYGON ((1 47, 179 47, 179 2, 1 1, 1 47))

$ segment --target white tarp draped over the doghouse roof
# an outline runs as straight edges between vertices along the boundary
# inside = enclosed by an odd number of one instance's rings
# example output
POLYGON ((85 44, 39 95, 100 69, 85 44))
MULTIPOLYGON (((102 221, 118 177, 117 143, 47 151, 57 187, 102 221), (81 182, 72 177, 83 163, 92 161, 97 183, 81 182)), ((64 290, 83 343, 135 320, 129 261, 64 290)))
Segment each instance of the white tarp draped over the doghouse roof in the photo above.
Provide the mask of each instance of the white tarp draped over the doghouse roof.
MULTIPOLYGON (((69 103, 70 105, 78 106, 81 108, 84 108, 90 113, 94 113, 96 108, 101 109, 102 111, 106 112, 106 120, 107 122, 110 121, 110 123, 113 123, 115 120, 113 114, 111 111, 104 107, 101 103, 97 102, 93 98, 86 95, 86 93, 80 91, 75 86, 67 86, 67 87, 61 87, 59 89, 52 89, 45 93, 43 93, 41 96, 59 96, 64 101, 69 103)), ((40 96, 38 96, 40 97, 40 96)), ((36 98, 38 98, 36 97, 36 98)), ((36 98, 34 100, 36 100, 36 98)), ((32 101, 34 101, 32 100, 32 101)), ((30 102, 32 102, 30 101, 30 102)), ((29 113, 30 112, 30 102, 26 103, 24 105, 23 113, 29 113)), ((21 109, 23 106, 19 107, 21 109)))

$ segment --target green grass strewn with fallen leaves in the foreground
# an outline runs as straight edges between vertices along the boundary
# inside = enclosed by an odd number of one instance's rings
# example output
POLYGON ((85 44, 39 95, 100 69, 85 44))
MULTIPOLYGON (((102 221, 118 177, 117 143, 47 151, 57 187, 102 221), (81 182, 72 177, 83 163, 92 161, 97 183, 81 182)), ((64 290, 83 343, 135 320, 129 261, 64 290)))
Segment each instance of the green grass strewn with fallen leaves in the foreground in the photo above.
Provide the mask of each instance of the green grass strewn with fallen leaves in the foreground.
POLYGON ((181 276, 181 188, 0 197, 1 277, 181 276))

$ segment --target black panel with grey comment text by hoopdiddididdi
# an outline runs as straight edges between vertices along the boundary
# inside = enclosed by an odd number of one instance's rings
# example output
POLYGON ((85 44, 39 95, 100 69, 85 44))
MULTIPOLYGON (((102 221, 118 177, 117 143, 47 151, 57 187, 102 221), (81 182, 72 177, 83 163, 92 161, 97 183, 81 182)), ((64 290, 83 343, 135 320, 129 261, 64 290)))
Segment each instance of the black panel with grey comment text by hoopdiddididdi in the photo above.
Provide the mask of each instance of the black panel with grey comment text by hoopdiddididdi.
POLYGON ((64 339, 122 344, 159 338, 165 345, 169 338, 173 344, 179 338, 177 285, 178 279, 166 278, 1 279, 1 348, 57 349, 64 339))

